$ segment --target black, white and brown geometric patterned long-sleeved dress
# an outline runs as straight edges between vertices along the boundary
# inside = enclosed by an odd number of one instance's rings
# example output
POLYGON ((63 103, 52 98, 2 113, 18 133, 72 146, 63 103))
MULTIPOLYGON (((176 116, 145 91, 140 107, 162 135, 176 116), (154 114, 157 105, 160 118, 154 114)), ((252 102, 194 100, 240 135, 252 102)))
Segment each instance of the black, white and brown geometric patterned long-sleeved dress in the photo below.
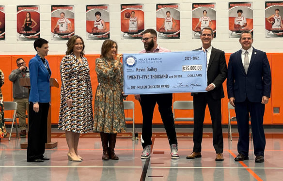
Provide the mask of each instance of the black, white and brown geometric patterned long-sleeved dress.
POLYGON ((58 129, 79 134, 93 129, 93 94, 89 64, 81 57, 82 63, 71 53, 64 56, 60 64, 61 103, 58 129), (66 100, 73 99, 68 107, 66 100))

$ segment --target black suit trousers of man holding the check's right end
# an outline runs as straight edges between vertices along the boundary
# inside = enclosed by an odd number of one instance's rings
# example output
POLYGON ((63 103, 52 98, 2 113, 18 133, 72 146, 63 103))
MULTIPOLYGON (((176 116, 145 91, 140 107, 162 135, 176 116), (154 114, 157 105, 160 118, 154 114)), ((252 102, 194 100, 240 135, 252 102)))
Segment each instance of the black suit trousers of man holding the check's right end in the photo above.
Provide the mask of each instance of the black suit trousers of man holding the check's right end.
POLYGON ((194 114, 194 128, 193 128, 193 151, 202 151, 203 126, 205 107, 208 105, 210 118, 212 122, 213 133, 213 147, 216 153, 223 152, 223 135, 221 127, 221 99, 215 100, 212 98, 210 92, 199 92, 193 96, 193 114, 194 114))

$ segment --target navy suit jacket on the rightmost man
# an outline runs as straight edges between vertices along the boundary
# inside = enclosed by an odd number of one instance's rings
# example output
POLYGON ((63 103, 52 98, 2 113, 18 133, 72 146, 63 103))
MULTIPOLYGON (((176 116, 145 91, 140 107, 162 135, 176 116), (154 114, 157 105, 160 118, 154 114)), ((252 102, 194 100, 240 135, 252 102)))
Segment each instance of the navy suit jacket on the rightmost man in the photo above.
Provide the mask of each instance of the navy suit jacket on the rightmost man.
POLYGON ((235 102, 260 103, 262 96, 270 97, 271 71, 265 52, 253 48, 252 57, 246 74, 241 57, 241 50, 230 56, 227 75, 228 98, 235 97, 235 102))

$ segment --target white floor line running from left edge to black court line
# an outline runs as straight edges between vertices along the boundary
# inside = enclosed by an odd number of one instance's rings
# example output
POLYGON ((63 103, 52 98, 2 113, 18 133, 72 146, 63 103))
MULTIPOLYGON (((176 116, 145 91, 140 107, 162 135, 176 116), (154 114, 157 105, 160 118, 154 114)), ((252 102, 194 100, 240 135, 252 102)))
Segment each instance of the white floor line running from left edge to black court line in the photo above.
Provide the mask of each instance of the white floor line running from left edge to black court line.
POLYGON ((142 168, 142 166, 0 166, 0 168, 142 168))

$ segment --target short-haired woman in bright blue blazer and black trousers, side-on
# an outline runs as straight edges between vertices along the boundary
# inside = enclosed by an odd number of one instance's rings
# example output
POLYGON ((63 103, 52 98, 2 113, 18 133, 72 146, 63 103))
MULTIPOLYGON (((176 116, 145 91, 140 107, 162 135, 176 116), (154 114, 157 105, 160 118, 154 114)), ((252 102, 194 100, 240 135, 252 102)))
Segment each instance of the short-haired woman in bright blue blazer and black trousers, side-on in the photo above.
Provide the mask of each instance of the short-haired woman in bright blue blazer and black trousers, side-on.
POLYGON ((50 103, 48 42, 39 38, 33 43, 37 54, 29 62, 31 91, 29 97, 28 162, 49 160, 43 154, 47 142, 47 116, 50 103))

